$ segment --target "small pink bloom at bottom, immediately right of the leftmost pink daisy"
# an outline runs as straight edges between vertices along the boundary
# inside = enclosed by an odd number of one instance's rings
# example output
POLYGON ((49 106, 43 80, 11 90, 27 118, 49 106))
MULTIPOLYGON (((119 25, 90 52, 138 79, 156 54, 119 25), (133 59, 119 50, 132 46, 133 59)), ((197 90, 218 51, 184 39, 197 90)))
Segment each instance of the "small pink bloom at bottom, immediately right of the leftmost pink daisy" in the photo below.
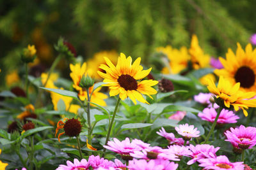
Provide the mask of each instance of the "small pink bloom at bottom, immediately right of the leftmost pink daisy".
POLYGON ((94 155, 90 155, 88 159, 88 164, 92 166, 93 169, 96 169, 98 167, 104 167, 104 168, 109 168, 109 167, 115 167, 114 162, 109 161, 108 159, 100 158, 99 155, 96 157, 94 155))

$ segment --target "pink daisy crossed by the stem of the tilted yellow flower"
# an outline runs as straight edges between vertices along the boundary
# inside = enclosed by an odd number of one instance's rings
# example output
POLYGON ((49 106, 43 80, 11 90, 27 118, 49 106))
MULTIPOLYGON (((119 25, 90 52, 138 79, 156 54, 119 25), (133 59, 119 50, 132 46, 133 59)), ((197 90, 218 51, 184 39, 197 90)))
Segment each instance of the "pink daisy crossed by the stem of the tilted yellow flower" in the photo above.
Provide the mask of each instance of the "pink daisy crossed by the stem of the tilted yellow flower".
MULTIPOLYGON (((214 122, 216 116, 217 111, 214 108, 205 108, 203 113, 198 113, 198 117, 211 123, 214 122)), ((220 112, 217 124, 234 124, 237 122, 237 119, 239 119, 239 117, 235 115, 233 111, 223 109, 220 112)))

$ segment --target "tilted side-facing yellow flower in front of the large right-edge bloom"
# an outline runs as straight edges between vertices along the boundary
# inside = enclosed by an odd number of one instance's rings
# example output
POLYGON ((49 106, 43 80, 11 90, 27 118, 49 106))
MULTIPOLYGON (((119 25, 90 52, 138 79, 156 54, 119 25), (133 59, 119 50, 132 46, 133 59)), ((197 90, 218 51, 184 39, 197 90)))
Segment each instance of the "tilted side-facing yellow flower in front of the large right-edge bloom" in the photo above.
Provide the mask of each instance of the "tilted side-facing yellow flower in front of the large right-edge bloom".
POLYGON ((230 108, 230 105, 234 107, 234 110, 239 110, 241 108, 244 112, 244 115, 247 117, 248 113, 245 109, 249 107, 256 107, 256 99, 250 99, 256 95, 255 92, 243 92, 239 90, 240 83, 236 83, 234 86, 230 81, 220 76, 218 87, 215 83, 209 79, 208 81, 208 90, 216 95, 216 103, 222 106, 223 108, 230 108))

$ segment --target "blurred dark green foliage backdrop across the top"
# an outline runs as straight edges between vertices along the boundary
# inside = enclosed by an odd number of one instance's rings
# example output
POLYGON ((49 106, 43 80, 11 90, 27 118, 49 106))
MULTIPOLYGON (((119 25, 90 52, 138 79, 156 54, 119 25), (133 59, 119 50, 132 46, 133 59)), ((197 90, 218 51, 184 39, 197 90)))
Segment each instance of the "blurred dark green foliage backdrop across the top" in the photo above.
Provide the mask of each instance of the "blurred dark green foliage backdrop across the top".
POLYGON ((84 60, 102 50, 147 58, 158 46, 189 47, 192 34, 205 53, 225 57, 237 42, 250 43, 255 6, 253 0, 1 0, 0 85, 22 67, 20 52, 29 44, 36 47, 37 64, 50 67, 60 37, 84 60))

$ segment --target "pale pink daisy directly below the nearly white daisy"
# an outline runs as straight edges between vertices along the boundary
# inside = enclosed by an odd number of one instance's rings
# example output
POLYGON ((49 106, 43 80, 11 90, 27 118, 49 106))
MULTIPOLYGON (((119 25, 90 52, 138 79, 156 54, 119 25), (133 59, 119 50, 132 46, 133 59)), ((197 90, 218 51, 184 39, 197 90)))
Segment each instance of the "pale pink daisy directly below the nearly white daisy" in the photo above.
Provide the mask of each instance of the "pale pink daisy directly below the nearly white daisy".
POLYGON ((164 151, 168 153, 173 153, 174 155, 179 157, 179 159, 181 159, 182 156, 190 157, 190 155, 192 155, 192 152, 186 146, 172 145, 168 146, 168 149, 165 149, 164 151))

